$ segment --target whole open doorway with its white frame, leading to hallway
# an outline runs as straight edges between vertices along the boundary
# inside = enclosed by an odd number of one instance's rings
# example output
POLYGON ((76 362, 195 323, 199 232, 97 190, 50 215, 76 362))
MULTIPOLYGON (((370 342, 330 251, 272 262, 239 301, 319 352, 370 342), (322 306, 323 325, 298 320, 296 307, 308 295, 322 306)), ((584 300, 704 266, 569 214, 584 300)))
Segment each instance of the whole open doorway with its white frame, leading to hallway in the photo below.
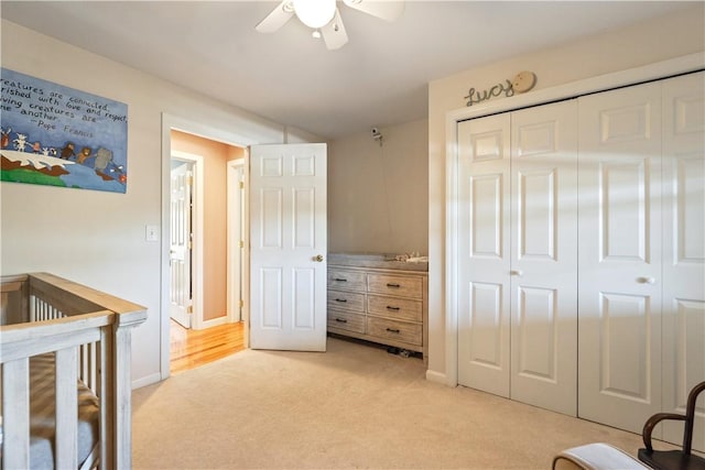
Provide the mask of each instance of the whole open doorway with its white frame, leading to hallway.
MULTIPOLYGON (((247 275, 245 275, 247 270, 243 264, 246 256, 242 255, 246 247, 242 242, 240 249, 238 243, 238 250, 234 251, 229 242, 231 239, 242 239, 246 233, 246 229, 241 227, 246 220, 246 214, 241 210, 245 207, 245 182, 236 194, 237 200, 229 201, 228 199, 232 196, 227 190, 227 179, 230 177, 226 177, 226 172, 235 168, 235 174, 240 175, 238 179, 245 178, 245 147, 249 142, 247 139, 236 139, 236 135, 185 122, 178 118, 170 118, 166 114, 164 114, 162 131, 162 227, 164 228, 162 250, 163 253, 170 253, 169 256, 162 258, 161 270, 163 308, 161 309, 160 349, 161 375, 165 379, 173 373, 172 357, 180 361, 176 364, 178 370, 184 370, 184 368, 197 367, 247 347, 247 338, 243 334, 246 328, 242 324, 247 321, 247 310, 242 308, 245 304, 242 294, 247 288, 243 285, 247 282, 247 275), (178 139, 173 138, 175 133, 180 134, 178 139), (207 145, 215 149, 227 149, 224 152, 229 154, 227 157, 220 156, 214 165, 214 162, 208 160, 213 152, 184 145, 184 135, 207 142, 207 145), (188 205, 193 211, 189 216, 180 216, 178 223, 175 223, 172 220, 174 211, 170 179, 172 168, 182 167, 184 164, 184 178, 191 177, 193 181, 191 189, 193 199, 188 203, 188 195, 183 195, 182 206, 188 205), (240 208, 236 212, 237 217, 231 216, 231 211, 228 210, 230 206, 240 208), (173 232, 181 228, 180 225, 187 226, 187 220, 191 220, 193 226, 192 234, 181 238, 185 240, 192 253, 191 256, 185 254, 181 258, 191 259, 192 274, 184 276, 185 281, 181 283, 180 289, 191 293, 191 318, 189 321, 176 323, 171 315, 174 297, 172 286, 175 284, 172 270, 174 264, 172 242, 174 241, 173 232), (199 223, 203 228, 198 228, 199 223), (216 260, 217 266, 209 264, 209 260, 216 260), (237 270, 231 272, 229 264, 237 266, 237 270), (234 274, 237 274, 235 278, 234 274)), ((184 251, 188 252, 188 250, 184 251)), ((188 298, 188 295, 184 294, 182 297, 188 298)))

